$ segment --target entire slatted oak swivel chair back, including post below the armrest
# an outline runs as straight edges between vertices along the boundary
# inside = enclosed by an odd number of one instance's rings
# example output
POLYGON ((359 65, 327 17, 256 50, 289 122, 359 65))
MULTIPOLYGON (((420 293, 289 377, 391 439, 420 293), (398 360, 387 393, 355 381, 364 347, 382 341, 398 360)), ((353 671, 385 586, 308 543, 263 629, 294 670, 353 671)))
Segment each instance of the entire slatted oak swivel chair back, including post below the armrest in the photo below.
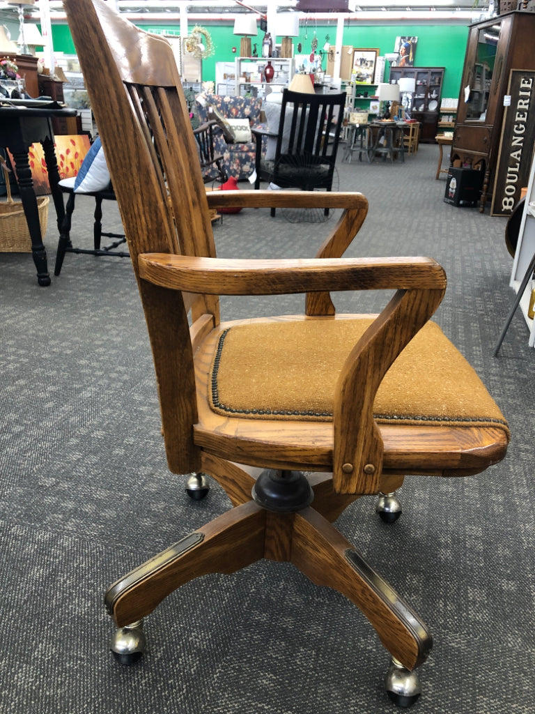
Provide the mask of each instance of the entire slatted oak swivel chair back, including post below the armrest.
POLYGON ((188 106, 167 41, 133 26, 112 3, 68 0, 65 9, 138 279, 168 465, 188 473, 200 468, 188 312, 217 325, 218 296, 151 289, 138 266, 148 252, 215 257, 188 106))

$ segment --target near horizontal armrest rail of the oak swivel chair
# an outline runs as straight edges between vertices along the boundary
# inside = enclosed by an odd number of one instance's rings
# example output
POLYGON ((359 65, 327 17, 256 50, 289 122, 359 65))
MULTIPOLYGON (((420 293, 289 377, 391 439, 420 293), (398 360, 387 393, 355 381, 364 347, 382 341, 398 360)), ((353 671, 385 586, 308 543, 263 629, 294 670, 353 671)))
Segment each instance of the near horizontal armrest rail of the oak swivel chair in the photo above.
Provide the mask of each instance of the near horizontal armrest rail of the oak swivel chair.
POLYGON ((210 295, 282 295, 310 291, 437 290, 446 286, 431 258, 235 260, 142 253, 139 274, 154 285, 210 295))

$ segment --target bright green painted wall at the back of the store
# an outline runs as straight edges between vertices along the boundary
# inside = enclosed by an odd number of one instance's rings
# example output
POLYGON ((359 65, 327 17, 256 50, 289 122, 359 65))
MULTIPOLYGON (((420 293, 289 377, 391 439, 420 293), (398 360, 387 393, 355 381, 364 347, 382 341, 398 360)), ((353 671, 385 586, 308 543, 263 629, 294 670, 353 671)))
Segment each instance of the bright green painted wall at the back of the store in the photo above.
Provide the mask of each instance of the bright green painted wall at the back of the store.
MULTIPOLYGON (((143 29, 165 29, 164 25, 140 25, 143 29)), ((177 29, 173 24, 173 29, 177 29)), ((215 54, 203 60, 203 79, 215 79, 215 62, 232 61, 238 54, 233 54, 232 48, 240 48, 240 38, 233 34, 232 26, 206 24, 206 29, 210 32, 215 54)), ((301 28, 299 38, 294 39, 294 44, 302 43, 303 51, 311 51, 312 39, 316 34, 318 47, 321 49, 325 44, 328 35, 331 44, 336 38, 336 26, 334 24, 324 26, 307 26, 301 28)), ((417 66, 437 66, 445 67, 444 85, 442 87, 443 97, 459 96, 459 88, 462 79, 462 67, 464 64, 464 53, 467 46, 468 27, 461 25, 387 25, 387 26, 361 26, 359 24, 349 24, 344 28, 343 44, 355 47, 377 47, 379 54, 394 51, 394 43, 397 36, 415 36, 418 44, 415 54, 415 64, 417 66)), ((258 32, 258 36, 251 38, 253 44, 258 43, 260 54, 263 33, 258 32)), ((54 48, 66 54, 74 54, 75 49, 71 39, 71 33, 66 25, 54 25, 52 27, 52 39, 54 48)), ((280 38, 277 38, 280 41, 280 38)))

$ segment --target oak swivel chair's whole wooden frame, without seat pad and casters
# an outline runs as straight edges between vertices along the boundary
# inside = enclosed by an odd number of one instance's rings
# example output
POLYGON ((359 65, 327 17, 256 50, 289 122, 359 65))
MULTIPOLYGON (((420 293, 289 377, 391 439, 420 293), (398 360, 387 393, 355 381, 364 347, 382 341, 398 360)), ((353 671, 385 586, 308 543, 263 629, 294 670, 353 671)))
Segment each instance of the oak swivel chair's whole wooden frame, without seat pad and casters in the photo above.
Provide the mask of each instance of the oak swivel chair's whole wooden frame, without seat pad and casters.
POLYGON ((408 473, 464 476, 506 452, 506 433, 498 427, 379 427, 374 421, 377 388, 442 300, 444 271, 429 258, 341 258, 365 220, 360 193, 207 195, 170 46, 116 14, 111 3, 65 0, 65 8, 138 279, 168 466, 178 474, 210 474, 234 506, 113 583, 108 610, 122 627, 200 575, 233 573, 260 558, 285 560, 350 598, 389 653, 412 670, 432 644, 426 626, 332 521, 360 496, 399 488, 408 473), (343 213, 315 258, 233 260, 215 256, 209 207, 221 206, 321 206, 343 213), (296 319, 336 320, 329 291, 377 289, 394 296, 342 368, 332 423, 223 418, 210 411, 213 343, 228 326, 220 323, 220 294, 304 293, 305 315, 296 319), (253 501, 252 488, 266 468, 282 480, 295 471, 314 472, 307 478, 312 504, 280 513, 253 501))

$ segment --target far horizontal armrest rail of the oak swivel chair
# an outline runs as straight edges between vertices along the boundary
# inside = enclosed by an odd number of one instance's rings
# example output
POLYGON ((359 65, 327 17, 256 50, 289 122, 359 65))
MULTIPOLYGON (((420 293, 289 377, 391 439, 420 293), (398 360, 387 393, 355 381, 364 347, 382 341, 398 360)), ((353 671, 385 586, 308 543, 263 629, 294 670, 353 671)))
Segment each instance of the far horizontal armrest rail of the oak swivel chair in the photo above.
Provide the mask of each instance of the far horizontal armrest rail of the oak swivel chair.
POLYGON ((367 198, 353 191, 209 191, 209 208, 366 208, 367 198))

